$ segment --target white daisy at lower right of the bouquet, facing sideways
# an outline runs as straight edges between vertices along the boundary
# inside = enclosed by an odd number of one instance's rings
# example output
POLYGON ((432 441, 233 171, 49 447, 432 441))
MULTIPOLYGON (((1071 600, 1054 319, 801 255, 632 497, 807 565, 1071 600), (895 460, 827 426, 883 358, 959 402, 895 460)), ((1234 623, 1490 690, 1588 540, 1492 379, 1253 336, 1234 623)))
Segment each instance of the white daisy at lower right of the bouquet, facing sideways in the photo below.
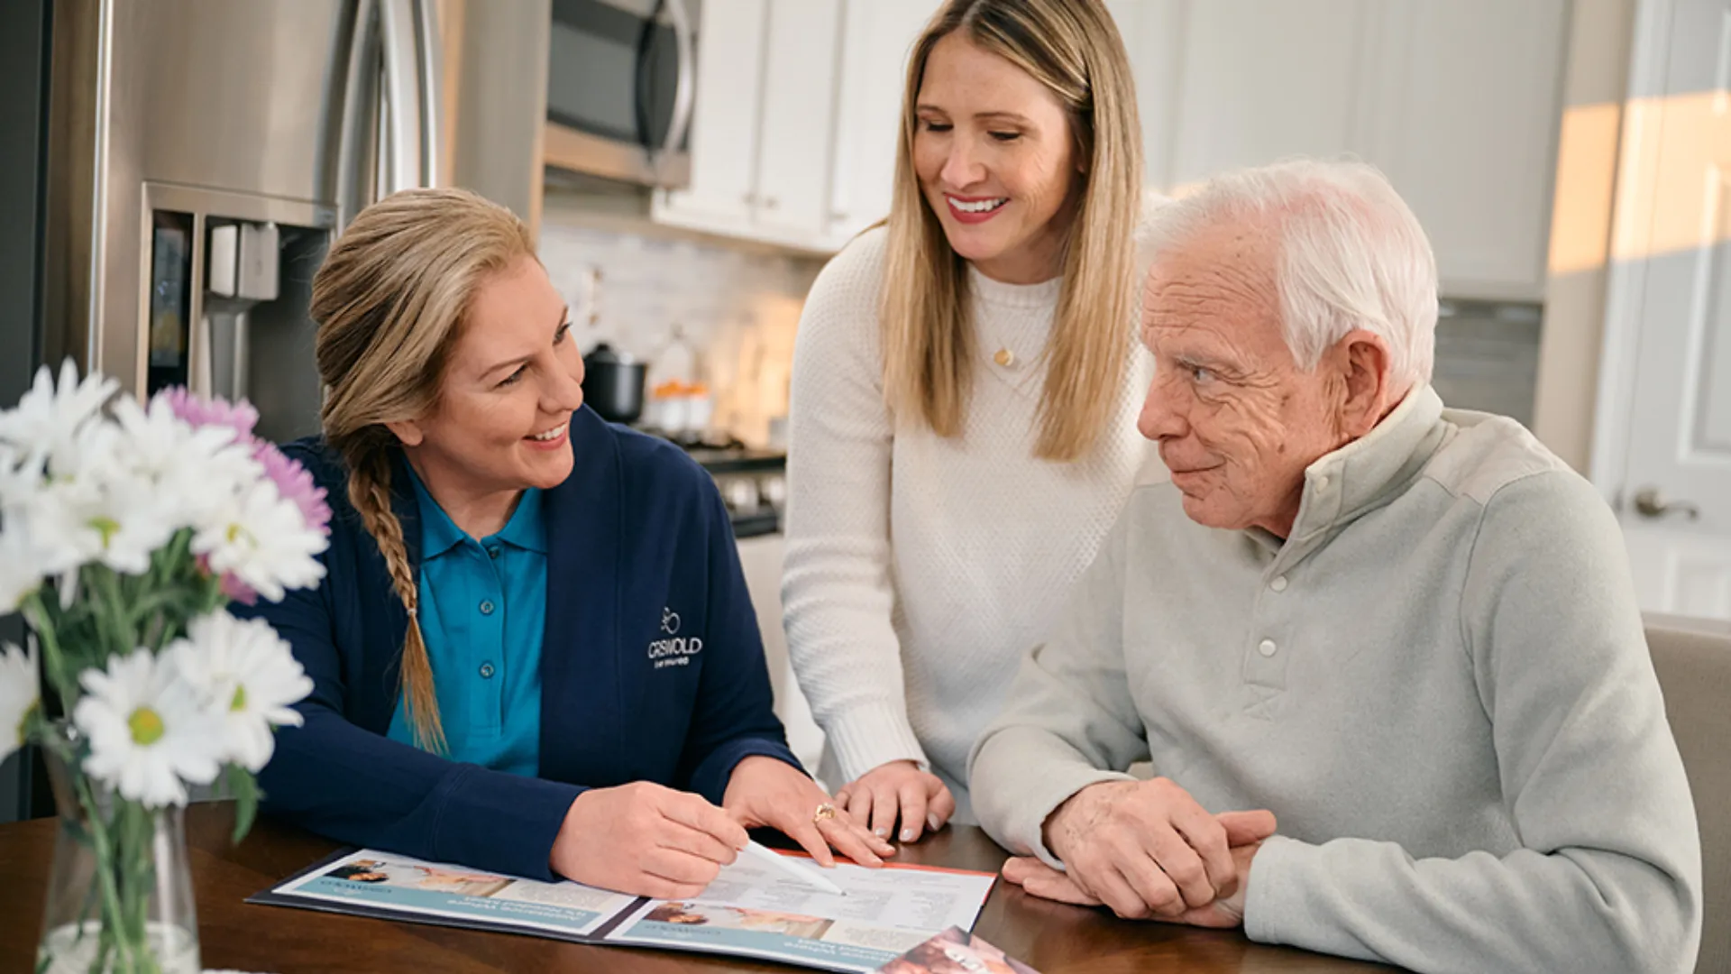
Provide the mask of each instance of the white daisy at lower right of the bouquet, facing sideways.
POLYGON ((313 681, 263 619, 241 620, 227 612, 194 619, 187 638, 170 643, 168 653, 220 719, 223 761, 256 773, 277 747, 272 726, 301 724, 293 705, 313 692, 313 681))

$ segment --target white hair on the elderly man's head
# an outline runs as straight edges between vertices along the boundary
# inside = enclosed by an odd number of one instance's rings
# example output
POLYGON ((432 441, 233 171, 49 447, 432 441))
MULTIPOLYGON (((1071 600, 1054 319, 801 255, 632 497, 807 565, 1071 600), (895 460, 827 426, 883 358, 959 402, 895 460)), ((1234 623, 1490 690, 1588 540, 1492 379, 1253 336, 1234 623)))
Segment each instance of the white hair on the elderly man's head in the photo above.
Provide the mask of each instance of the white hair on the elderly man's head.
POLYGON ((1298 367, 1364 329, 1388 343, 1390 381, 1430 381, 1437 258, 1418 217, 1374 166, 1286 159, 1222 173, 1155 211, 1156 255, 1219 224, 1276 236, 1281 329, 1298 367))

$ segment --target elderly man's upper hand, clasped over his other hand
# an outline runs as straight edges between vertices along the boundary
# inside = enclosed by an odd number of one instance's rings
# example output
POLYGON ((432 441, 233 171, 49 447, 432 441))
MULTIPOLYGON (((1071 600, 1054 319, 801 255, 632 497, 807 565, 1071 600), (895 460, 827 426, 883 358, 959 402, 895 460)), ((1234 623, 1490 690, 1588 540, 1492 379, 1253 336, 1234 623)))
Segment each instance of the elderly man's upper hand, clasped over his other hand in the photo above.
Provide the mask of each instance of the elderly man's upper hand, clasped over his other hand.
POLYGON ((1210 815, 1168 778, 1103 782, 1046 820, 1046 847, 1087 896, 1125 919, 1179 920, 1239 889, 1232 847, 1274 834, 1274 813, 1210 815))

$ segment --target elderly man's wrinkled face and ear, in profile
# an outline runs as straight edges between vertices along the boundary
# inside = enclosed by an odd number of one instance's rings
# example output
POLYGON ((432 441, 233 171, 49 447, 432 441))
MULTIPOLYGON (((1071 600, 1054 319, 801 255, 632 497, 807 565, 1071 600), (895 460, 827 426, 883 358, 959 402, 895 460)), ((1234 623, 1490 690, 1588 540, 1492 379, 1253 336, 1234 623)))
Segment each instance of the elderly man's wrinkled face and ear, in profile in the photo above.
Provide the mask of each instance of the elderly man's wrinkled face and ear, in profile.
POLYGON ((1191 520, 1286 537, 1305 468, 1354 438, 1343 411, 1364 338, 1302 371, 1281 336, 1276 250, 1265 229, 1239 224, 1156 260, 1142 296, 1155 380, 1137 430, 1160 444, 1191 520))

